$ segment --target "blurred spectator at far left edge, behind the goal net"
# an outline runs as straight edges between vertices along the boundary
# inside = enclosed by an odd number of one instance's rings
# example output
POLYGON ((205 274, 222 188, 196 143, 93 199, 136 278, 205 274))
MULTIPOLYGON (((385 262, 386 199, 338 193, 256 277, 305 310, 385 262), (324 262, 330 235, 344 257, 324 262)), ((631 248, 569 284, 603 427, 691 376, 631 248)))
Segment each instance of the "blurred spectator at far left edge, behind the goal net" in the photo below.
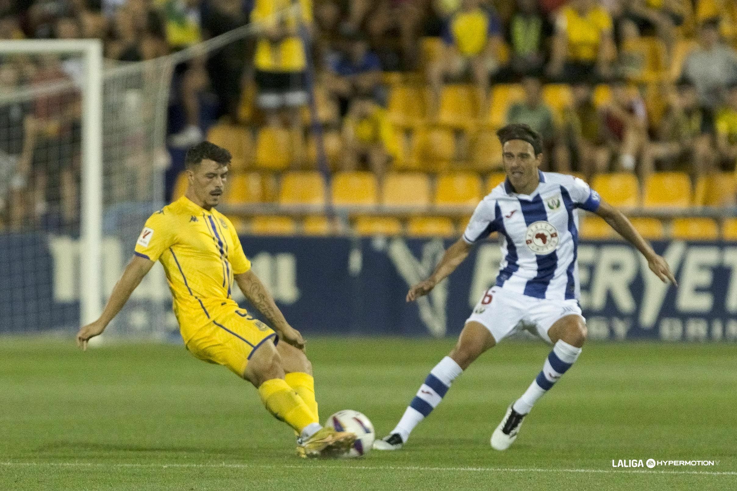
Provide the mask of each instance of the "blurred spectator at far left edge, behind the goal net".
MULTIPOLYGON (((0 65, 0 93, 18 88, 20 74, 10 63, 0 65)), ((0 105, 0 216, 7 215, 18 230, 29 213, 28 182, 34 146, 33 124, 27 102, 0 105)))

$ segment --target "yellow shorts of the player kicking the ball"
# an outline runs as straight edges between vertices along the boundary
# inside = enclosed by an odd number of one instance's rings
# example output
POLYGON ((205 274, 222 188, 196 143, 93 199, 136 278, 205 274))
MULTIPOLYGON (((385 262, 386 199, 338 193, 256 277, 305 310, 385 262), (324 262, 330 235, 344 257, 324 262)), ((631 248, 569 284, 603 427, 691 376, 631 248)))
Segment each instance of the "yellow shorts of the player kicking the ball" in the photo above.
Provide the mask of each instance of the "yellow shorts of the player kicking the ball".
MULTIPOLYGON (((279 341, 273 329, 240 308, 228 305, 223 311, 211 311, 210 316, 209 324, 187 332, 191 337, 186 349, 200 360, 228 367, 239 377, 256 348, 268 340, 275 345, 279 341)), ((185 334, 184 328, 182 331, 185 334)))

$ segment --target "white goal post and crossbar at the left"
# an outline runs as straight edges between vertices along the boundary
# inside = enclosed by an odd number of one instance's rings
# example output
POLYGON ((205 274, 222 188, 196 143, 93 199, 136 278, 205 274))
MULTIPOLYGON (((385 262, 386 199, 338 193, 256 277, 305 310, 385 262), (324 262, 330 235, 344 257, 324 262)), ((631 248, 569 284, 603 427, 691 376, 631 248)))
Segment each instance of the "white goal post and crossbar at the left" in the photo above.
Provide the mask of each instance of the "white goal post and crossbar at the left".
MULTIPOLYGON (((81 192, 80 192, 80 322, 93 322, 102 312, 102 41, 3 40, 3 54, 74 54, 83 61, 80 87, 81 192)), ((8 94, 13 96, 14 94, 8 94)), ((0 96, 1 99, 1 96, 0 96)))

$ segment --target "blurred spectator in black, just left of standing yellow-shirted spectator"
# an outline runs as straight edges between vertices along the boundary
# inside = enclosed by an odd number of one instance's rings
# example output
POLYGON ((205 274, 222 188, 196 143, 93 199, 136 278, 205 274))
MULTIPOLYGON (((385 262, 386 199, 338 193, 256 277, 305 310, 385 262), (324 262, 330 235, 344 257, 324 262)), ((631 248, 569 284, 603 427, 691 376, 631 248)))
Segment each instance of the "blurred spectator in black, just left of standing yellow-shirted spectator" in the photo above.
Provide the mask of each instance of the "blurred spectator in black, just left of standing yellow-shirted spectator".
MULTIPOLYGON (((203 18, 203 31, 206 38, 214 38, 247 23, 240 0, 213 0, 203 18)), ((220 99, 220 114, 228 115, 231 121, 238 119, 243 71, 252 56, 251 43, 241 39, 218 49, 207 60, 212 89, 220 99)))

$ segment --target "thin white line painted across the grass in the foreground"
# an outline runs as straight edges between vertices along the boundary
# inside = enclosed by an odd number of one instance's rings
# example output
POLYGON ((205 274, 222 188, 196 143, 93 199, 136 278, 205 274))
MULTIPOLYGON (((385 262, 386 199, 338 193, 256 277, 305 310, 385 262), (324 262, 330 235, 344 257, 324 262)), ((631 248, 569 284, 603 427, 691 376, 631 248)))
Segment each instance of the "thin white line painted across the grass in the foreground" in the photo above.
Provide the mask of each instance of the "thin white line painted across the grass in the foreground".
POLYGON ((714 470, 609 470, 609 469, 542 469, 539 467, 422 467, 422 466, 400 466, 400 465, 324 465, 324 464, 126 464, 124 462, 113 462, 105 464, 102 462, 0 462, 6 467, 38 466, 38 467, 155 467, 166 469, 167 467, 219 467, 234 469, 349 469, 349 470, 422 470, 424 471, 458 471, 458 472, 509 472, 509 473, 597 473, 597 474, 697 474, 699 476, 737 476, 737 471, 714 471, 714 470))

